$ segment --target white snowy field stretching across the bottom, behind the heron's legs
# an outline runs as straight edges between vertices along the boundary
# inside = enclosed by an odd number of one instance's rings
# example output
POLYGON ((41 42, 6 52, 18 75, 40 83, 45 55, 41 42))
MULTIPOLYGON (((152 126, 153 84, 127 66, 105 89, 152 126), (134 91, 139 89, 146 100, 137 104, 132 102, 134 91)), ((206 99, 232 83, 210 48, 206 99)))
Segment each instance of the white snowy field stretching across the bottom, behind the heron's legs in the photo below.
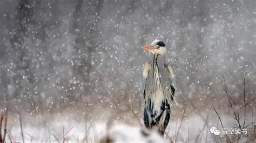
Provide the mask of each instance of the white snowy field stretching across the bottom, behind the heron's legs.
MULTIPOLYGON (((219 112, 224 127, 235 128, 234 124, 237 124, 237 122, 231 117, 231 110, 225 106, 221 107, 226 111, 219 112)), ((250 105, 251 107, 255 106, 250 105)), ((255 122, 254 116, 251 115, 252 112, 249 111, 247 111, 246 125, 255 122)), ((223 127, 221 127, 218 116, 213 109, 197 112, 192 106, 187 105, 185 114, 182 112, 183 108, 173 110, 172 119, 169 126, 167 126, 164 137, 161 137, 157 132, 147 131, 144 126, 140 126, 132 111, 123 114, 126 116, 125 120, 114 118, 116 115, 111 117, 110 110, 95 113, 96 115, 93 115, 92 119, 86 119, 85 114, 77 114, 76 111, 59 114, 46 113, 36 117, 23 115, 22 126, 26 142, 31 141, 31 139, 32 142, 50 142, 50 140, 52 142, 62 142, 63 139, 68 142, 107 142, 106 140, 114 142, 225 142, 225 139, 223 139, 225 137, 221 131, 223 127), (96 119, 97 114, 105 118, 96 119), (221 134, 211 134, 211 127, 217 127, 221 134)), ((142 118, 140 118, 140 122, 143 122, 142 118)), ((247 127, 248 134, 243 135, 239 142, 255 141, 254 125, 250 124, 247 127)), ((12 141, 22 140, 18 115, 10 115, 8 128, 12 141)), ((235 135, 229 137, 237 142, 235 135)))

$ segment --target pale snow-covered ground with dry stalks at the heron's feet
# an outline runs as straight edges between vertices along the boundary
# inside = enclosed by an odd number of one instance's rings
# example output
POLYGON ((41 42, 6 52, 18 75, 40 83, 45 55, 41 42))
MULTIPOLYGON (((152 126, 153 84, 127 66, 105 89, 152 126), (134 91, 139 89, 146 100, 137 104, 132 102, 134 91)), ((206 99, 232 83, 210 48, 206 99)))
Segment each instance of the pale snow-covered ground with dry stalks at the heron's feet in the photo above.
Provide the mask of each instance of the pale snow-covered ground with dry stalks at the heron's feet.
MULTIPOLYGON (((174 113, 176 112, 178 111, 174 111, 174 113)), ((229 115, 220 115, 224 127, 234 127, 235 121, 229 115)), ((166 129, 168 137, 165 134, 164 138, 157 132, 146 130, 145 127, 140 126, 138 121, 132 117, 129 118, 134 121, 133 125, 118 119, 78 120, 69 113, 58 114, 54 117, 51 117, 51 115, 38 115, 32 119, 27 116, 23 118, 23 134, 26 141, 30 141, 32 137, 32 141, 48 142, 49 134, 51 141, 62 141, 63 133, 65 139, 72 142, 100 142, 107 139, 117 142, 170 142, 170 138, 174 142, 195 140, 197 140, 196 142, 208 142, 224 137, 222 134, 223 127, 221 127, 217 115, 210 112, 201 113, 201 116, 186 114, 182 123, 181 117, 172 118, 166 129), (176 139, 179 126, 180 129, 176 139), (221 134, 211 134, 211 127, 217 127, 221 134)), ((12 141, 21 141, 21 128, 18 116, 11 116, 9 121, 8 130, 12 141)), ((140 121, 142 122, 142 119, 140 121)), ((250 118, 246 121, 246 124, 249 122, 251 122, 250 118)), ((250 128, 252 127, 250 126, 250 128)))

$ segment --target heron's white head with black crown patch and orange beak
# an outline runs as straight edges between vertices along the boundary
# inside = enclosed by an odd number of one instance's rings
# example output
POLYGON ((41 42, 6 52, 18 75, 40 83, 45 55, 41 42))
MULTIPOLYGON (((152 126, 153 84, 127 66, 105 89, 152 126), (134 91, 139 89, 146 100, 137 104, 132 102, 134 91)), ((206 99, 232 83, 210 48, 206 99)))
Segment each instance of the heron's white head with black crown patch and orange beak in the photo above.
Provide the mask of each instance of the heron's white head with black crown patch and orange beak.
POLYGON ((167 54, 167 50, 166 50, 164 42, 162 42, 158 39, 153 40, 153 42, 150 45, 144 45, 142 47, 142 49, 148 50, 153 54, 157 53, 161 56, 164 56, 167 54))

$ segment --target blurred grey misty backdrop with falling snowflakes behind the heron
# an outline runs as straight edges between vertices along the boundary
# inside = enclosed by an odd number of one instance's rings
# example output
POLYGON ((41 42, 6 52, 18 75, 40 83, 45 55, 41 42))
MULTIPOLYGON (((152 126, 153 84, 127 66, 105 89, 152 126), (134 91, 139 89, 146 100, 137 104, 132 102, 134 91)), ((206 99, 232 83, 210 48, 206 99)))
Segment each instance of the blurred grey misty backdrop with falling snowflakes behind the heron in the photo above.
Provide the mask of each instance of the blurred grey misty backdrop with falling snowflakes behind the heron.
MULTIPOLYGON (((165 42, 177 105, 256 91, 256 1, 0 1, 0 109, 44 114, 140 107, 142 45, 165 42), (128 89, 129 87, 129 89, 128 89)), ((220 103, 221 104, 221 103, 220 103)), ((208 106, 207 105, 207 106, 208 106)), ((139 111, 139 110, 138 110, 139 111)))

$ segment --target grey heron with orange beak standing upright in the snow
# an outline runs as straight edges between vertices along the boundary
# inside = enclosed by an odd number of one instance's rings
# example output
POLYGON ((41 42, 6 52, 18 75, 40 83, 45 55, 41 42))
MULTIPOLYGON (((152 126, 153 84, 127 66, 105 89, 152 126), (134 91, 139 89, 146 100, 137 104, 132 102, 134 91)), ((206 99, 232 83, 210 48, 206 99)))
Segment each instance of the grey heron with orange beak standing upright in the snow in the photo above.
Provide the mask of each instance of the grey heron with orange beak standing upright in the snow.
POLYGON ((144 45, 144 50, 153 54, 153 59, 145 64, 144 124, 149 129, 157 130, 164 135, 170 120, 174 98, 174 72, 167 63, 167 50, 164 42, 153 40, 151 45, 144 45))

